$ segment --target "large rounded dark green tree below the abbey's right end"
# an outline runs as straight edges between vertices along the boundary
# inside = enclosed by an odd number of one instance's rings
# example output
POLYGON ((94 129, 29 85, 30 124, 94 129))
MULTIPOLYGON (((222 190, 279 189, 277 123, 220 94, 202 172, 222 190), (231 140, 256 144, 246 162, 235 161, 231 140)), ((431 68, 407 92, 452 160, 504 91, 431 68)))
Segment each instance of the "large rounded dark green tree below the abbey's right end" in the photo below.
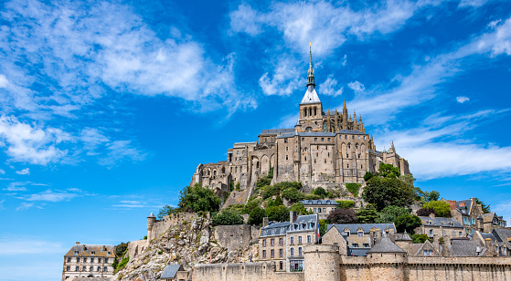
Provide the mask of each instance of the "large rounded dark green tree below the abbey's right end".
POLYGON ((362 198, 374 204, 378 211, 389 205, 408 206, 413 202, 413 197, 413 186, 395 178, 373 177, 362 193, 362 198))

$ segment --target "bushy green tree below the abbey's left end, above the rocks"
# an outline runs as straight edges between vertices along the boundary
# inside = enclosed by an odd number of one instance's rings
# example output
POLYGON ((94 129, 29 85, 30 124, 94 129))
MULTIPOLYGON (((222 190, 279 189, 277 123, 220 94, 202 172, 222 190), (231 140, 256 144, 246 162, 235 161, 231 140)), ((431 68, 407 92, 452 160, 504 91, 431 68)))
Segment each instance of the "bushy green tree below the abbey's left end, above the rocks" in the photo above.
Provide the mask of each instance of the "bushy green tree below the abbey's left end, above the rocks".
POLYGON ((186 186, 179 196, 179 208, 193 212, 215 212, 220 207, 220 198, 212 190, 196 183, 193 187, 186 186))

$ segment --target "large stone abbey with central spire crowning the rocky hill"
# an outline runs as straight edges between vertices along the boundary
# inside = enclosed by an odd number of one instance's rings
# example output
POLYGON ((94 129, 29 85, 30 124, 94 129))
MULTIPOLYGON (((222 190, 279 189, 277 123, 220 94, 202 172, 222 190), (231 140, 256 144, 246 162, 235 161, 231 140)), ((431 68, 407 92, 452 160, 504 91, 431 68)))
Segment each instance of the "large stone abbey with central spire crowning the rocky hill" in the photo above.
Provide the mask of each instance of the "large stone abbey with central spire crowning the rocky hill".
POLYGON ((379 163, 392 164, 401 174, 410 173, 392 143, 378 151, 362 118, 342 112, 326 112, 315 91, 312 52, 307 90, 300 103, 300 119, 293 129, 262 130, 257 141, 237 142, 227 160, 199 164, 191 184, 202 182, 214 190, 228 191, 229 184, 250 190, 273 168, 272 183, 302 182, 304 188, 339 188, 347 182, 364 182, 367 171, 378 172, 379 163))

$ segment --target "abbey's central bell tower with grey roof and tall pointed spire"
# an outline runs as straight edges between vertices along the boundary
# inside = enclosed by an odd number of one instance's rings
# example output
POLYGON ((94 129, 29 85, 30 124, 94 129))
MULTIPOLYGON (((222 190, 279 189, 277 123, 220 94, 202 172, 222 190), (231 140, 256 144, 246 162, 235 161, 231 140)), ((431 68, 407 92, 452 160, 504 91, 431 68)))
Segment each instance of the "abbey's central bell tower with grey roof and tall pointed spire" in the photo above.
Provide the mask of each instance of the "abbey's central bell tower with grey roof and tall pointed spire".
POLYGON ((315 91, 313 51, 310 48, 309 70, 307 71, 307 90, 300 102, 300 120, 303 120, 301 131, 323 130, 323 104, 315 91))

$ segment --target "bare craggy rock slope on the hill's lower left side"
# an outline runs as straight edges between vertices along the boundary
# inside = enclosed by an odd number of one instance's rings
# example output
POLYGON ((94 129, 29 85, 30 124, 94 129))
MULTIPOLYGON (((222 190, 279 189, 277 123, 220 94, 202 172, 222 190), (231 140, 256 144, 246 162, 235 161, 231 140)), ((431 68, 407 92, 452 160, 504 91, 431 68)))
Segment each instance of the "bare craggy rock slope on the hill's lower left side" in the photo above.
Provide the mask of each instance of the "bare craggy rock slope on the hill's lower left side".
MULTIPOLYGON (((217 226, 222 227, 225 226, 217 226)), ((250 251, 253 253, 253 260, 257 260, 257 238, 250 239, 243 248, 228 250, 230 239, 240 241, 239 234, 244 234, 245 239, 250 237, 245 230, 247 225, 230 225, 233 235, 229 234, 229 238, 221 239, 215 237, 216 233, 218 235, 215 228, 210 220, 202 217, 171 225, 164 234, 151 240, 144 251, 130 256, 128 264, 112 276, 111 280, 157 280, 168 264, 183 265, 189 271, 197 264, 250 261, 250 251), (241 231, 237 230, 236 226, 241 231)), ((225 231, 221 233, 225 234, 225 231)))

